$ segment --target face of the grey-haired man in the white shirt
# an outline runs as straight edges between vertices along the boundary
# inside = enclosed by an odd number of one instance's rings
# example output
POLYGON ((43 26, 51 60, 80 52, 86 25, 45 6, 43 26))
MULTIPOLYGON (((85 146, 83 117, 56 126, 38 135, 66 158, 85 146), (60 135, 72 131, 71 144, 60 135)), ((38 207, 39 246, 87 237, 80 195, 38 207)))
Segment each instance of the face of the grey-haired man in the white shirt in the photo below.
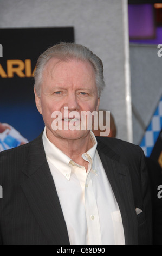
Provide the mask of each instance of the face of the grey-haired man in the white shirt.
POLYGON ((81 60, 64 62, 54 58, 50 59, 44 68, 41 95, 38 97, 36 94, 36 105, 40 114, 43 115, 49 138, 86 137, 89 131, 87 128, 81 130, 81 113, 82 111, 97 111, 99 107, 95 71, 92 65, 81 60), (64 112, 64 109, 68 110, 64 112), (52 118, 55 111, 61 112, 62 130, 54 131, 52 128, 52 123, 56 120, 56 115, 52 118), (77 113, 76 119, 74 119, 76 116, 73 116, 73 111, 77 113), (69 125, 80 129, 69 129, 69 125))

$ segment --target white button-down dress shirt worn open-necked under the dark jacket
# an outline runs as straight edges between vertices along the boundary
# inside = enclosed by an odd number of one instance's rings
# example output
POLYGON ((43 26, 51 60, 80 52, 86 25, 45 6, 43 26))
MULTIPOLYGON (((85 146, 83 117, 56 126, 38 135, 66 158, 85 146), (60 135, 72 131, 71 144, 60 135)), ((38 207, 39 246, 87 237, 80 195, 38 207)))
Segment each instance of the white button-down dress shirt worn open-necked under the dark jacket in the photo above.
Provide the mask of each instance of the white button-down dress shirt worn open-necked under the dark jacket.
POLYGON ((70 245, 125 245, 118 203, 102 166, 97 141, 82 155, 88 170, 73 162, 43 132, 47 162, 66 221, 70 245))

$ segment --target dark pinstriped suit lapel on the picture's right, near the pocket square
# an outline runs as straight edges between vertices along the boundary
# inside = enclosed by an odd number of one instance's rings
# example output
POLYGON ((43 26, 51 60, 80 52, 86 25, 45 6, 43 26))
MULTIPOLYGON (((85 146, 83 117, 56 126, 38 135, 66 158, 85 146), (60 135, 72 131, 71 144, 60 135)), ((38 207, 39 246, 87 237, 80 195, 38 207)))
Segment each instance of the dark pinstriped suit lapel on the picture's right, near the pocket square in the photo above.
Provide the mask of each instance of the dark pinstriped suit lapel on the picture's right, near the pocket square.
POLYGON ((128 166, 120 156, 98 139, 98 153, 112 186, 122 216, 126 245, 138 244, 138 225, 128 166))

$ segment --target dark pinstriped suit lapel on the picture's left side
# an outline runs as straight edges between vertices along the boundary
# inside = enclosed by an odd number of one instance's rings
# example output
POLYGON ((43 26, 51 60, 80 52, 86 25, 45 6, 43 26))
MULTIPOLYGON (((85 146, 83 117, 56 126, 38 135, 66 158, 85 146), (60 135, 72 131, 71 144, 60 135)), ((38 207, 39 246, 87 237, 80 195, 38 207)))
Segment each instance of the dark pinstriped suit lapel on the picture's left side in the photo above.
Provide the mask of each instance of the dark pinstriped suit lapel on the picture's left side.
POLYGON ((66 223, 46 155, 42 135, 31 143, 22 189, 50 245, 69 245, 66 223))

